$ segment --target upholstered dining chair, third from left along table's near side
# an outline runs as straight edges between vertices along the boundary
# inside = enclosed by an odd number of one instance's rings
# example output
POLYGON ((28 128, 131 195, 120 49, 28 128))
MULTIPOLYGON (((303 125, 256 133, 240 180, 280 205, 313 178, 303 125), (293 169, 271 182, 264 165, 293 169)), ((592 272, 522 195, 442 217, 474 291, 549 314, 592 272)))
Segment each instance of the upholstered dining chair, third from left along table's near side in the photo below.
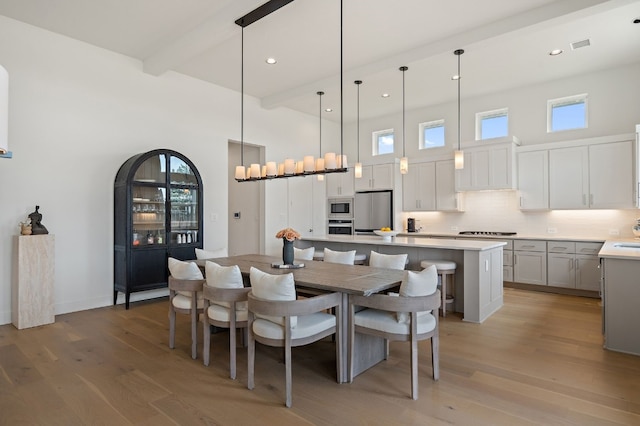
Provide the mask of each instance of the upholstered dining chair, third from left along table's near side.
MULTIPOLYGON (((291 348, 316 342, 334 333, 339 334, 341 296, 329 293, 296 300, 293 274, 271 275, 256 268, 250 272, 251 292, 248 295, 248 379, 247 387, 254 388, 256 342, 284 348, 285 405, 291 407, 291 348), (325 311, 334 307, 337 316, 325 311)), ((340 377, 342 345, 336 337, 336 370, 340 377)))

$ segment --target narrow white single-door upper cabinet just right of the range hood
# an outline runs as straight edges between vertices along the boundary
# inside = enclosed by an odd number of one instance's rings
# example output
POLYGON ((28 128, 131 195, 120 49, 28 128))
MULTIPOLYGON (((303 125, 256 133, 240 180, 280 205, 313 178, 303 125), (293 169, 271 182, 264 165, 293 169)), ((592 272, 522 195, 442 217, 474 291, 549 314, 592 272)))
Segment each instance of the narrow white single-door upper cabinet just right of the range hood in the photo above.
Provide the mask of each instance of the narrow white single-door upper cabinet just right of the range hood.
POLYGON ((549 151, 519 152, 520 210, 549 209, 549 151))

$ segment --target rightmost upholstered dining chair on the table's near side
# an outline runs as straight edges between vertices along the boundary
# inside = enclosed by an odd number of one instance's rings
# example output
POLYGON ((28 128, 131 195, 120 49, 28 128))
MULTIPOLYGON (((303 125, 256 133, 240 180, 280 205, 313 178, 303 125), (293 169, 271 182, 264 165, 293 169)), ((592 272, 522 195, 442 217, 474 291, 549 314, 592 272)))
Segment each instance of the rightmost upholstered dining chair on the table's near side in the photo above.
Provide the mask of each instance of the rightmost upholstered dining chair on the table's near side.
MULTIPOLYGON (((411 342, 411 398, 418 399, 418 341, 431 339, 433 380, 438 380, 440 292, 435 267, 421 272, 406 271, 399 295, 349 296, 349 377, 353 381, 355 334, 362 333, 386 341, 411 342), (355 312, 357 306, 368 309, 355 312), (436 314, 433 315, 433 310, 436 314)), ((388 346, 387 346, 388 347, 388 346)), ((388 353, 385 359, 388 358, 388 353)))

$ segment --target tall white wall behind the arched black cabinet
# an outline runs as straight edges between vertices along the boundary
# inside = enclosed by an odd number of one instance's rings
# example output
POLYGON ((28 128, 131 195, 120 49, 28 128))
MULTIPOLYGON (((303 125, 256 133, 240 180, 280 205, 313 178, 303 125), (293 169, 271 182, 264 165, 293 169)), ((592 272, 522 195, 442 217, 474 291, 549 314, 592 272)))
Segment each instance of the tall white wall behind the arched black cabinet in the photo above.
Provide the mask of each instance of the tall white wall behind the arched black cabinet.
MULTIPOLYGON (((137 60, 2 16, 0 63, 14 153, 0 160, 0 324, 11 318, 12 241, 36 204, 56 235, 56 314, 112 303, 113 179, 137 153, 170 148, 194 162, 209 218, 204 245, 227 246, 227 144, 240 138, 239 93, 177 73, 147 75, 137 60)), ((317 117, 263 110, 248 97, 245 140, 267 146, 267 160, 302 157, 317 150, 317 117)), ((266 251, 277 253, 286 184, 269 183, 266 200, 266 251)))

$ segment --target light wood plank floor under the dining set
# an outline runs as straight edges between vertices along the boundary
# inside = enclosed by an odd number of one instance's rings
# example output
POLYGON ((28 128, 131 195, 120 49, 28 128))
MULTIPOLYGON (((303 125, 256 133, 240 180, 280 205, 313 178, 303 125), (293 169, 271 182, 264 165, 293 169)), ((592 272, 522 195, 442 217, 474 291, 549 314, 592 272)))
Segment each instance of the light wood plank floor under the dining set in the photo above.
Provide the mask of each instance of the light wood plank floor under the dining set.
MULTIPOLYGON (((1 425, 640 424, 640 357, 602 349, 599 301, 505 289, 484 324, 440 323, 440 381, 420 346, 420 398, 409 398, 408 344, 351 384, 337 384, 330 340, 294 350, 293 407, 284 407, 279 350, 259 346, 256 388, 228 378, 228 334, 212 362, 190 353, 178 316, 167 346, 167 299, 0 327, 1 425)), ((639 331, 640 332, 640 331, 639 331)))

